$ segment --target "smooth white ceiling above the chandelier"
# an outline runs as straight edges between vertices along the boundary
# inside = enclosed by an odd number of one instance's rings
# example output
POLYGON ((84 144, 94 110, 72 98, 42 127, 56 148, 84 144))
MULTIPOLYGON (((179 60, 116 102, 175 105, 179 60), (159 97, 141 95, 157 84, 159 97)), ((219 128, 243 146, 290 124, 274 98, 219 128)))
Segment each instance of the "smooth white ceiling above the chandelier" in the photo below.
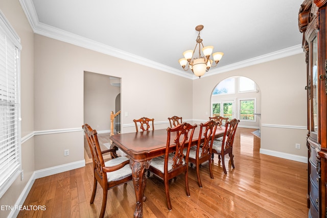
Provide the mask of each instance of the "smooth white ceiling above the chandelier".
POLYGON ((37 34, 186 77, 192 72, 185 74, 178 59, 194 49, 197 25, 204 26, 204 46, 224 53, 213 68, 218 71, 301 52, 297 17, 302 2, 20 0, 37 34))

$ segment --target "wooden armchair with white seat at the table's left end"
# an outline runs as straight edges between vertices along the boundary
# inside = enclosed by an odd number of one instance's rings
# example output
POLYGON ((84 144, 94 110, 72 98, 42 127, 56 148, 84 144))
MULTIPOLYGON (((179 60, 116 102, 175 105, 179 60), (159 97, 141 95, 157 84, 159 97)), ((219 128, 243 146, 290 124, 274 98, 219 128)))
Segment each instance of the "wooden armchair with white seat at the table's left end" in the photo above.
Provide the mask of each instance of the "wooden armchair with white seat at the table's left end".
POLYGON ((113 152, 115 149, 101 151, 97 131, 92 130, 88 124, 84 124, 82 127, 91 150, 94 168, 94 183, 90 204, 94 203, 99 182, 103 189, 101 212, 99 215, 102 218, 106 210, 108 190, 132 180, 132 170, 129 165, 130 160, 126 156, 122 156, 105 162, 102 155, 113 152))

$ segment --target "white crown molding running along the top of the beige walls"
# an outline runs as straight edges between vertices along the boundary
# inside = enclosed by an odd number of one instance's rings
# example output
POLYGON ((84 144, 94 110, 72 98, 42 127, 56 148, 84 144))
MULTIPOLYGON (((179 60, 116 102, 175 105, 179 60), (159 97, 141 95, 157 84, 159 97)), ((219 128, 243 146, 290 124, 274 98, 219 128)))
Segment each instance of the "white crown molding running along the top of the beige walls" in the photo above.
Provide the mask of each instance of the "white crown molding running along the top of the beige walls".
MULTIPOLYGON (((96 52, 99 52, 102 54, 110 55, 110 56, 120 58, 123 60, 131 61, 131 62, 141 64, 144 66, 148 66, 148 67, 151 67, 154 69, 169 72, 170 74, 174 74, 174 75, 177 75, 180 77, 184 77, 184 78, 188 78, 188 79, 192 79, 192 80, 195 80, 198 78, 195 75, 191 74, 190 72, 186 72, 184 70, 178 70, 173 67, 149 60, 147 58, 143 58, 143 57, 119 50, 119 49, 115 49, 114 47, 96 42, 94 40, 91 40, 91 39, 88 39, 88 38, 85 38, 85 37, 82 37, 82 36, 79 36, 76 34, 72 34, 67 31, 64 31, 64 30, 61 30, 61 29, 58 29, 58 28, 55 28, 55 27, 52 27, 49 25, 45 25, 44 23, 39 22, 32 0, 19 0, 19 3, 21 5, 24 13, 26 14, 26 17, 30 23, 30 26, 35 34, 39 34, 39 35, 53 38, 53 39, 56 39, 59 41, 67 42, 70 44, 74 44, 74 45, 77 45, 80 47, 84 47, 85 49, 89 49, 89 50, 96 51, 96 52)), ((251 65, 255 65, 255 64, 259 64, 259 63, 264 63, 267 61, 272 61, 272 60, 276 60, 279 58, 284 58, 284 57, 288 57, 288 56, 296 55, 296 54, 300 54, 300 53, 303 53, 301 44, 289 47, 287 49, 272 52, 272 53, 269 53, 266 55, 262 55, 259 57, 255 57, 255 58, 251 58, 248 60, 233 63, 230 65, 226 65, 223 67, 219 67, 216 69, 211 69, 209 72, 204 74, 202 77, 209 77, 209 76, 213 76, 216 74, 221 74, 222 72, 235 70, 235 69, 239 69, 239 68, 243 68, 243 67, 247 67, 247 66, 251 66, 251 65)))

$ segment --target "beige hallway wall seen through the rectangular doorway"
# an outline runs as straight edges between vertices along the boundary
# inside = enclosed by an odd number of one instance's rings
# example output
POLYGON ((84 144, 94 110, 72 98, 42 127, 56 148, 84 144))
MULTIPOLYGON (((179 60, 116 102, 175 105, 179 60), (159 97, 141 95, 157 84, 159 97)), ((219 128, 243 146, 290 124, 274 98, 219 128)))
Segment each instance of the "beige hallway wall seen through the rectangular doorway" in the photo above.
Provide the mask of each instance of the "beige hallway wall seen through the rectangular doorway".
MULTIPOLYGON (((120 79, 115 79, 119 80, 120 79)), ((120 86, 112 86, 110 77, 94 72, 84 72, 84 122, 98 133, 110 132, 110 112, 115 111, 116 96, 120 86)), ((120 103, 119 103, 120 104, 120 103)))

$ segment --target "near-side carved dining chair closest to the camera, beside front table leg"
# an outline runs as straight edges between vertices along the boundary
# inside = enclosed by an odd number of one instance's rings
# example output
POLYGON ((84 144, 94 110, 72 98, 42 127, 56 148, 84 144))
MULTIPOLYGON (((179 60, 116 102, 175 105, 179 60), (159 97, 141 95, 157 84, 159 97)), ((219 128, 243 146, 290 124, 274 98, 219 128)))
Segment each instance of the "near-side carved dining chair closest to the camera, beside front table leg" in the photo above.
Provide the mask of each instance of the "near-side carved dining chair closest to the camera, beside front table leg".
POLYGON ((164 179, 167 207, 169 210, 172 210, 172 204, 169 196, 169 180, 184 173, 186 195, 190 196, 188 163, 190 146, 196 127, 196 124, 193 126, 188 123, 183 123, 173 128, 168 127, 165 155, 153 158, 148 168, 148 171, 164 179), (176 144, 176 146, 172 150, 171 147, 173 144, 176 144), (186 155, 183 154, 184 148, 187 150, 186 155))

